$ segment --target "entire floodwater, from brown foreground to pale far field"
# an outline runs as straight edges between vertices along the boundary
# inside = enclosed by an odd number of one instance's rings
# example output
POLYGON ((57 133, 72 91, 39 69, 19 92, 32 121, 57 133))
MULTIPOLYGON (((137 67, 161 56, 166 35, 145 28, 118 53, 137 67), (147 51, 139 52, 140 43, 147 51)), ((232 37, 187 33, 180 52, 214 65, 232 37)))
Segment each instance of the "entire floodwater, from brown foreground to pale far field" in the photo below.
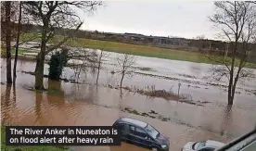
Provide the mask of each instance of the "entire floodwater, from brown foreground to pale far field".
MULTIPOLYGON (((148 75, 133 74, 125 77, 123 86, 145 88, 155 86, 157 90, 172 89, 176 93, 181 83, 181 94, 190 94, 194 101, 207 101, 201 106, 181 103, 163 98, 151 98, 142 94, 112 88, 117 86, 120 75, 111 74, 116 70, 113 64, 115 53, 104 59, 100 69, 99 85, 96 86, 97 69, 85 68, 77 75, 77 69, 66 68, 62 78, 80 83, 52 82, 45 78, 45 88, 49 91, 32 91, 34 76, 22 71, 33 71, 35 63, 19 60, 16 87, 6 86, 6 61, 1 58, 1 107, 2 121, 18 125, 111 125, 120 117, 143 120, 171 138, 170 151, 179 151, 189 141, 217 140, 227 143, 231 139, 250 132, 256 122, 255 79, 238 84, 233 107, 226 106, 224 87, 214 86, 207 69, 211 65, 173 61, 159 58, 138 57, 135 72, 167 76, 167 80, 148 75), (188 77, 189 75, 190 77, 188 77), (108 85, 111 85, 109 87, 108 85), (136 112, 129 113, 127 108, 136 112), (151 114, 151 111, 157 114, 151 114), (136 114, 134 114, 136 113, 136 114), (137 115, 140 113, 140 115, 137 115), (146 114, 145 114, 146 113, 146 114), (154 117, 154 118, 152 118, 154 117), (162 118, 168 120, 162 120, 162 118)), ((45 74, 47 74, 45 65, 45 74)), ((252 70, 256 72, 255 70, 252 70)), ((224 83, 224 82, 222 82, 224 83)), ((74 146, 82 150, 146 150, 129 144, 120 147, 109 146, 74 146)))

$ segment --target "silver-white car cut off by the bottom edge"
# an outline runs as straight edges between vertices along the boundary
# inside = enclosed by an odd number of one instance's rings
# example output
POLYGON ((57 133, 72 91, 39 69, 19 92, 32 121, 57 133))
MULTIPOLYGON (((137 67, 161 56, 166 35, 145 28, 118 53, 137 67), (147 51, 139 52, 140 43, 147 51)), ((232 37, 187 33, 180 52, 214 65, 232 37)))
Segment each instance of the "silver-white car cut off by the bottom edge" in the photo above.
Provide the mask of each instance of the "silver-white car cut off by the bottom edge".
POLYGON ((182 151, 214 151, 222 146, 224 143, 217 141, 201 141, 201 142, 188 142, 183 148, 182 151))

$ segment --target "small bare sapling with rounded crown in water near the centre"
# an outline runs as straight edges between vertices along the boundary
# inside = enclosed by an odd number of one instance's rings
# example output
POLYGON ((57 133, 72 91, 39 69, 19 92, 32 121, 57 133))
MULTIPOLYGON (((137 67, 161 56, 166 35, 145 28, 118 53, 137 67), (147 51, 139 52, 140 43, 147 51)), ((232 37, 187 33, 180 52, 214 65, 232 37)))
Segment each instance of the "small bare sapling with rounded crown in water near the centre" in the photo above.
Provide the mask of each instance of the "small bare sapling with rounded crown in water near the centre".
POLYGON ((118 71, 121 73, 122 78, 120 81, 120 88, 122 90, 122 81, 125 75, 132 73, 132 66, 135 64, 135 57, 128 54, 122 54, 120 57, 117 57, 118 71))

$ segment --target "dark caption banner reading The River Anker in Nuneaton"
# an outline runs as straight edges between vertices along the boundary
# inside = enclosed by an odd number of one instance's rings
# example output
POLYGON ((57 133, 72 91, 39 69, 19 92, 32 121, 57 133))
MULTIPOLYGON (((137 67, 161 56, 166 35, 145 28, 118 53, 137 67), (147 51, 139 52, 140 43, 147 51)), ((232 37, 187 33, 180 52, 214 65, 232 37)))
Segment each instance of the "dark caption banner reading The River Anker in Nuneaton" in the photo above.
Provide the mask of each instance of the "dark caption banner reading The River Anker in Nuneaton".
POLYGON ((6 126, 6 145, 121 145, 112 126, 6 126))

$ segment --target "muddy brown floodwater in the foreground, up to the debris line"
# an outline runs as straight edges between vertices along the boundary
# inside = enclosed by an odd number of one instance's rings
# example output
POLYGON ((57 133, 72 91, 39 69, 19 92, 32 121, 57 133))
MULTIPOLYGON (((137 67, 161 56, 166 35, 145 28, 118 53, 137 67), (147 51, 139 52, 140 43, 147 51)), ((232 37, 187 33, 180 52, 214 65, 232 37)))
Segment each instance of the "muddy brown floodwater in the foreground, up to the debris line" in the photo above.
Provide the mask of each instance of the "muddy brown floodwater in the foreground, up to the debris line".
MULTIPOLYGON (((91 82, 90 78, 86 80, 84 76, 81 79, 86 82, 83 83, 52 82, 45 78, 45 88, 48 91, 36 92, 32 90, 34 76, 21 72, 34 69, 34 62, 29 61, 18 62, 16 87, 9 87, 5 83, 5 60, 1 61, 1 120, 4 123, 107 126, 112 125, 118 118, 130 117, 146 121, 165 133, 171 139, 170 151, 180 151, 189 141, 211 139, 227 143, 249 132, 256 121, 255 100, 245 100, 244 106, 240 103, 232 108, 219 102, 195 106, 162 98, 148 98, 126 90, 121 94, 119 90, 103 86, 112 80, 104 77, 100 78, 99 86, 91 82), (129 109, 134 111, 128 111, 129 109)), ((45 72, 46 70, 47 68, 45 72)), ((71 72, 70 69, 67 70, 71 72)), ((125 143, 122 146, 73 146, 72 149, 147 150, 125 143)))

